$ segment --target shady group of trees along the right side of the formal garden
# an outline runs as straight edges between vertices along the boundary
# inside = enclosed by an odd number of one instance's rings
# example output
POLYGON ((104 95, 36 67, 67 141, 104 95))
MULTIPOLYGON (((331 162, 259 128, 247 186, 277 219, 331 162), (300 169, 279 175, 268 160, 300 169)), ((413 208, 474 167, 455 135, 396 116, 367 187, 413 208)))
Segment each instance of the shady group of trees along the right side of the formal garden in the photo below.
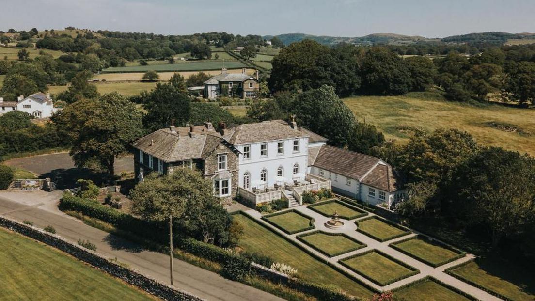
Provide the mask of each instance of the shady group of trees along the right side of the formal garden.
POLYGON ((404 146, 376 147, 377 155, 385 148, 408 181, 401 214, 473 233, 510 259, 535 258, 535 159, 454 129, 416 131, 404 146))

